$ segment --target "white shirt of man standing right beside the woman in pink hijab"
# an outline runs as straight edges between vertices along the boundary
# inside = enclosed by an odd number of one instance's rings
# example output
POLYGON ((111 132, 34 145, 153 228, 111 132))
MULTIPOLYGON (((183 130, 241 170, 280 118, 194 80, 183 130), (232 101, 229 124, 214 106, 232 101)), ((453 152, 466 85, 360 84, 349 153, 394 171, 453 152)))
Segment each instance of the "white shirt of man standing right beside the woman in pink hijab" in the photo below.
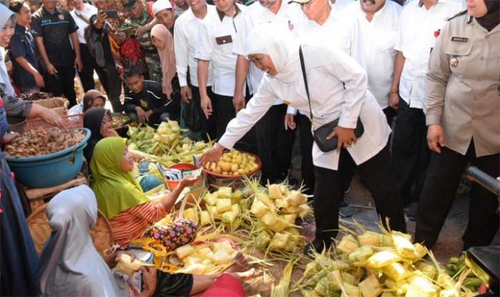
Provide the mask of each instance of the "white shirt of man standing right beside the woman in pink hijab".
MULTIPOLYGON (((205 19, 217 18, 215 6, 206 5, 206 16, 204 19, 198 19, 194 16, 193 11, 188 9, 184 14, 179 16, 174 25, 174 49, 176 57, 177 76, 179 76, 179 84, 187 86, 187 71, 189 69, 189 79, 192 86, 198 85, 198 61, 194 58, 196 53, 196 45, 200 35, 201 26, 205 19)), ((211 86, 214 81, 214 69, 212 63, 209 64, 209 79, 206 86, 211 86)))

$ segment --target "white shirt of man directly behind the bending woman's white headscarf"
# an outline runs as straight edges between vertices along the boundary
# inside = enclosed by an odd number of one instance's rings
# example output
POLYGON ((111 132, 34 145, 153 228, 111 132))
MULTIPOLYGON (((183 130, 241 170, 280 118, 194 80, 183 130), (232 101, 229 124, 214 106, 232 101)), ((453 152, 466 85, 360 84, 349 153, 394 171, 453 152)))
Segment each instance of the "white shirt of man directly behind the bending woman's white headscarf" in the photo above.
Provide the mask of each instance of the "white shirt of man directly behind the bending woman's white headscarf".
MULTIPOLYGON (((270 23, 271 21, 281 21, 285 25, 289 26, 294 34, 297 33, 301 26, 304 26, 307 22, 305 14, 301 11, 299 4, 292 3, 288 4, 286 0, 281 1, 281 6, 277 12, 274 14, 272 11, 259 4, 259 1, 255 2, 249 6, 249 10, 245 13, 245 23, 246 30, 241 31, 239 34, 239 42, 234 44, 234 52, 241 56, 244 56, 244 44, 246 36, 248 36, 255 26, 260 24, 270 23)), ((259 89, 259 84, 261 83, 264 72, 256 68, 256 66, 251 63, 249 66, 249 76, 248 84, 250 89, 250 94, 256 94, 259 89)), ((276 105, 283 104, 283 101, 277 100, 276 105)))

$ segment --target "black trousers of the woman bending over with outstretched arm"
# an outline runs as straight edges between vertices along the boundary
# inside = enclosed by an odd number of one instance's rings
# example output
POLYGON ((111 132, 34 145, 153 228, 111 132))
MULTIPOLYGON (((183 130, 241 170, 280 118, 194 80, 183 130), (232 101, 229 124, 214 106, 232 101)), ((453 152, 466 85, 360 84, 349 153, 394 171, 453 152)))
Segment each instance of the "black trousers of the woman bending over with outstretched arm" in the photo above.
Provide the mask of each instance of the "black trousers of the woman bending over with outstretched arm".
MULTIPOLYGON (((385 225, 389 218, 392 230, 406 232, 403 207, 389 166, 389 148, 385 147, 374 157, 357 166, 359 176, 374 198, 376 211, 385 225)), ((314 218, 316 239, 329 241, 339 229, 339 199, 342 193, 341 165, 354 163, 345 148, 341 148, 339 170, 314 166, 314 218)))

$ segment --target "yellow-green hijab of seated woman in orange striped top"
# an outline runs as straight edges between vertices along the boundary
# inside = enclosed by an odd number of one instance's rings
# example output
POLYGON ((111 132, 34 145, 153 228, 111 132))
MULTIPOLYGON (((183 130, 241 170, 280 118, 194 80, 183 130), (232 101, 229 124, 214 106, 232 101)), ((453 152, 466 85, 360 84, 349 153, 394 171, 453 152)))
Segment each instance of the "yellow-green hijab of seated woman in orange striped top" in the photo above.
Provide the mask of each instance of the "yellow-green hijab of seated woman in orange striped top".
POLYGON ((96 193, 97 206, 107 218, 113 218, 126 209, 149 202, 136 179, 120 168, 126 139, 106 137, 94 148, 90 170, 96 193))

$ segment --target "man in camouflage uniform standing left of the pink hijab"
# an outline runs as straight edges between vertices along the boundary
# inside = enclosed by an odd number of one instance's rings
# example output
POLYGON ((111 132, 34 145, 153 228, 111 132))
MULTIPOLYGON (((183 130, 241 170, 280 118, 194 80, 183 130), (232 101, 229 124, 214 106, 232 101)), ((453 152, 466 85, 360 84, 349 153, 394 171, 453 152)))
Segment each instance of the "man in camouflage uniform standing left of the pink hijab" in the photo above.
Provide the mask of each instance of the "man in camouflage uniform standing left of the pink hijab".
MULTIPOLYGON (((156 18, 149 14, 146 5, 141 0, 125 0, 125 10, 129 13, 129 19, 121 24, 121 31, 134 28, 135 38, 139 41, 144 61, 148 66, 148 79, 161 84, 161 64, 158 51, 151 41, 151 28, 158 24, 156 18)), ((123 42, 122 40, 121 42, 123 42)))

